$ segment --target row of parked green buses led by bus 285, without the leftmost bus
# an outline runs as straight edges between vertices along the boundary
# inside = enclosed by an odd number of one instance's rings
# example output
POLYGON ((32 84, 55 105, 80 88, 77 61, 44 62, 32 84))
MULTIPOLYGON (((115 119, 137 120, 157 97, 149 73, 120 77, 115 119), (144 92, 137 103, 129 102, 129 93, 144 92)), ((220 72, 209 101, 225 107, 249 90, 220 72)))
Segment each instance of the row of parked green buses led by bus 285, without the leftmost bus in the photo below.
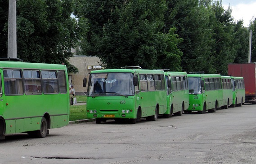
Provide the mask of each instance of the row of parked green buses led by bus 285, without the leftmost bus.
POLYGON ((97 124, 109 119, 135 124, 141 118, 156 121, 158 115, 216 112, 245 101, 241 77, 140 67, 91 71, 87 91, 87 118, 95 118, 97 124))

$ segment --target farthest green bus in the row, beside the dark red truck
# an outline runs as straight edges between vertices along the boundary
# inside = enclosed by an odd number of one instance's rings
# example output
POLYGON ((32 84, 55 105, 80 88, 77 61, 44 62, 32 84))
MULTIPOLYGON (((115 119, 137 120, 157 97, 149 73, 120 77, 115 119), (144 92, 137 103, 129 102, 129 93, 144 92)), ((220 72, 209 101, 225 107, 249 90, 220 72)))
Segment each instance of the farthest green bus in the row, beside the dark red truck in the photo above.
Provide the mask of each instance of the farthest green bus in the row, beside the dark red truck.
POLYGON ((233 102, 230 107, 241 107, 245 102, 245 87, 243 77, 231 77, 233 102))

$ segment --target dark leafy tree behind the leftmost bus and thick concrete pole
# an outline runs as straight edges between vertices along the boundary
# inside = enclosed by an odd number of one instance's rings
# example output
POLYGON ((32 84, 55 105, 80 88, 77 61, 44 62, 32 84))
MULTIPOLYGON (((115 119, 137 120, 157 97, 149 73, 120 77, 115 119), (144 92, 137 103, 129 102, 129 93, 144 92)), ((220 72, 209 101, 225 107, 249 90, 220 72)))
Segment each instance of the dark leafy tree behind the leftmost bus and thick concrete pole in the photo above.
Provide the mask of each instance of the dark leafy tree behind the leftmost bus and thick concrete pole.
POLYGON ((72 0, 18 0, 17 57, 25 62, 64 63, 69 72, 78 72, 67 61, 79 40, 78 22, 70 17, 72 5, 72 0))

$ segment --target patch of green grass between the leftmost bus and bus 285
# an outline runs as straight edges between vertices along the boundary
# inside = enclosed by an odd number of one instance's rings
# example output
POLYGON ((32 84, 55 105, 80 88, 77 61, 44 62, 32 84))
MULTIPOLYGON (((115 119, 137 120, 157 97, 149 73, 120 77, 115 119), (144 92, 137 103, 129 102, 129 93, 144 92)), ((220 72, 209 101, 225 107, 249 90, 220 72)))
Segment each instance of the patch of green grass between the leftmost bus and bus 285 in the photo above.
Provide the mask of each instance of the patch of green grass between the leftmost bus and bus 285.
POLYGON ((69 121, 86 119, 86 105, 70 105, 69 121))

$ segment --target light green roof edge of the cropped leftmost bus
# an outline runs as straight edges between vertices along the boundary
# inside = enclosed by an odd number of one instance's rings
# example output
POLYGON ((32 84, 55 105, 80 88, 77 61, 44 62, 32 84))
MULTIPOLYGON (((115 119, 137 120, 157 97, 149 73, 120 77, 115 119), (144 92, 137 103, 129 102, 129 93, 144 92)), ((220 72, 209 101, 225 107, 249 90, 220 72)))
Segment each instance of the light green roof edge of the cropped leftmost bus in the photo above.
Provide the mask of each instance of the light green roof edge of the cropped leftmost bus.
POLYGON ((64 70, 66 69, 66 65, 46 64, 46 63, 28 63, 28 62, 21 62, 21 61, 0 61, 0 68, 64 70))

